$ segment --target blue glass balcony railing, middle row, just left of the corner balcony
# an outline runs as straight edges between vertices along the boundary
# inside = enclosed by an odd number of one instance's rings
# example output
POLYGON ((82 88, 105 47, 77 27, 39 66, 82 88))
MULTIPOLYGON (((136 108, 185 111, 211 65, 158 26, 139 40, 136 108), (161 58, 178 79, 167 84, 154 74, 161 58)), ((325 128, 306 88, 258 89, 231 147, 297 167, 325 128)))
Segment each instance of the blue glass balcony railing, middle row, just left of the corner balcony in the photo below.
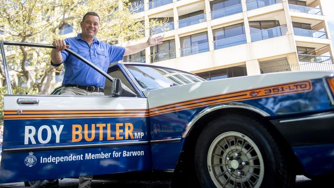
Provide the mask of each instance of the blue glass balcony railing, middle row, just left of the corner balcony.
POLYGON ((265 29, 261 31, 256 31, 251 33, 252 42, 261 41, 265 39, 271 39, 273 37, 285 35, 288 32, 286 25, 273 27, 270 29, 265 29))

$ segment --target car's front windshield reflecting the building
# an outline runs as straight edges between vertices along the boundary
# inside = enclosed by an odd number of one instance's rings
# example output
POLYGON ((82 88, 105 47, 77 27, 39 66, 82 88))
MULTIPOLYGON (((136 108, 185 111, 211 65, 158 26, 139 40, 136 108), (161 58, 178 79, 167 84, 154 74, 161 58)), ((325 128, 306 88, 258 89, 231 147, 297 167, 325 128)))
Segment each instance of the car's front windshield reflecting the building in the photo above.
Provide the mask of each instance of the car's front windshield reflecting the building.
POLYGON ((142 90, 206 81, 195 74, 169 68, 138 65, 126 65, 126 68, 136 79, 142 90))

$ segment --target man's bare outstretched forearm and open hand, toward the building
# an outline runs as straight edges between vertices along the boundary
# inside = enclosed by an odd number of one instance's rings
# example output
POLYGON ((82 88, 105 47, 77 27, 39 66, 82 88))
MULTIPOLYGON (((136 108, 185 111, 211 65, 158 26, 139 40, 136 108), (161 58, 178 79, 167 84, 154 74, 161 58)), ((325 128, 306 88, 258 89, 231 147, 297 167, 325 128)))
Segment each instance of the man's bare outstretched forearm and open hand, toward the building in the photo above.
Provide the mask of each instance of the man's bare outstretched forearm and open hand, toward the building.
POLYGON ((163 41, 163 36, 153 37, 151 34, 149 39, 146 42, 125 47, 124 55, 131 55, 131 54, 140 52, 141 50, 147 47, 155 46, 157 44, 162 44, 162 41, 163 41))

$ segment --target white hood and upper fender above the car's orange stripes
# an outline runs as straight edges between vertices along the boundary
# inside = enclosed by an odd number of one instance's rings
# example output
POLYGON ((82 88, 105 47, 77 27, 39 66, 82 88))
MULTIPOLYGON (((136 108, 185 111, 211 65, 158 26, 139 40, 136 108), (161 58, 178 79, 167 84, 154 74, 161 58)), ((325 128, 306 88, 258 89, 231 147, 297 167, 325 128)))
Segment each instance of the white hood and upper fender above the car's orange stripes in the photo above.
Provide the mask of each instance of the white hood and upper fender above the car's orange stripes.
POLYGON ((333 76, 334 71, 276 72, 254 76, 198 82, 144 91, 150 108, 161 105, 209 97, 224 93, 254 89, 276 84, 319 79, 333 76))

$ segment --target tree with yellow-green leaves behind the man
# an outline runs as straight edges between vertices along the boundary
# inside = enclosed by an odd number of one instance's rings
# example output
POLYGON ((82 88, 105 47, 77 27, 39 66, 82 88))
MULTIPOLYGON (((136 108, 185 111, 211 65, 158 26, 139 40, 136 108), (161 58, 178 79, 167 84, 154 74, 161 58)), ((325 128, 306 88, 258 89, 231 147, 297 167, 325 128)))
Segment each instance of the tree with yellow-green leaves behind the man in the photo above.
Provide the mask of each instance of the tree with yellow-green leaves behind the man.
MULTIPOLYGON (((112 44, 136 40, 144 36, 145 28, 133 14, 137 8, 128 0, 0 0, 0 30, 4 32, 0 34, 0 40, 51 44, 55 39, 61 39, 59 31, 65 24, 72 25, 73 31, 79 33, 79 23, 88 11, 100 15, 99 40, 112 44)), ((150 27, 162 24, 152 21, 150 27)), ((61 71, 61 67, 50 66, 50 49, 22 46, 11 46, 10 49, 8 66, 16 72, 11 79, 13 91, 17 91, 16 94, 47 94, 52 87, 54 72, 61 71)), ((0 74, 4 75, 2 66, 0 74)), ((6 85, 5 81, 3 85, 6 85)), ((3 98, 3 92, 0 97, 3 98)), ((2 110, 3 105, 0 107, 2 110)))

